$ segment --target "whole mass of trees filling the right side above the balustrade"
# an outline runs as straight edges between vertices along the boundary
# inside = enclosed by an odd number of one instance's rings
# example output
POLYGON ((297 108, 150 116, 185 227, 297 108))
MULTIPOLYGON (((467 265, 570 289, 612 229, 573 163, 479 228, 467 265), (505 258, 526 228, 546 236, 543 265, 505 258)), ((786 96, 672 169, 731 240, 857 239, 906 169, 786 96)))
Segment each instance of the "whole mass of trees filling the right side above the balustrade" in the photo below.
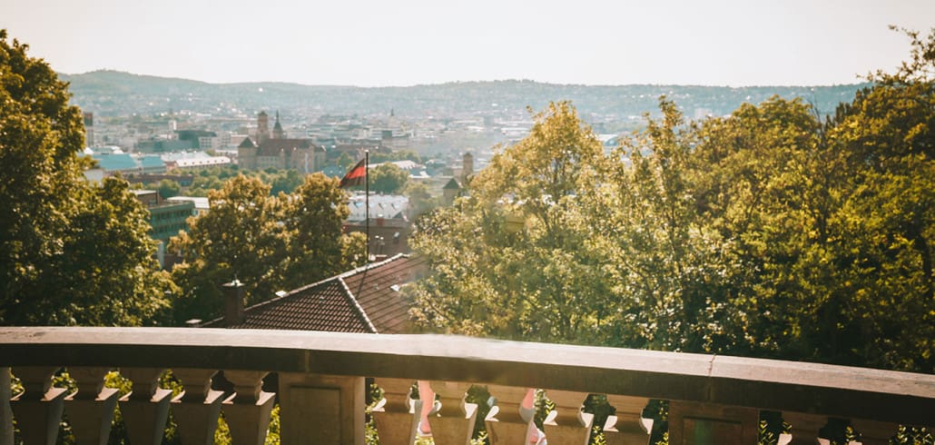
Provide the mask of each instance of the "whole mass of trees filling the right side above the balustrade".
POLYGON ((419 221, 425 328, 935 368, 935 33, 827 122, 773 97, 604 156, 568 104, 419 221), (913 326, 913 329, 905 329, 913 326))

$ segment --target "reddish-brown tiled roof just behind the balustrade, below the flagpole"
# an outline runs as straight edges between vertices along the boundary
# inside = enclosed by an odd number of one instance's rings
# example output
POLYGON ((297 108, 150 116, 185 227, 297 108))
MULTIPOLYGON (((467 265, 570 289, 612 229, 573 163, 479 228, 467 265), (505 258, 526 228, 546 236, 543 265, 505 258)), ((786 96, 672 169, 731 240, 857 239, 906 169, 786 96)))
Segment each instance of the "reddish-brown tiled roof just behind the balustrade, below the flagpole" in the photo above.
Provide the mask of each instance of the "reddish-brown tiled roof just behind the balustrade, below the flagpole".
MULTIPOLYGON (((402 286, 426 270, 422 257, 398 254, 381 263, 295 289, 251 308, 231 328, 398 334, 409 325, 402 286)), ((221 327, 223 319, 206 323, 221 327)))

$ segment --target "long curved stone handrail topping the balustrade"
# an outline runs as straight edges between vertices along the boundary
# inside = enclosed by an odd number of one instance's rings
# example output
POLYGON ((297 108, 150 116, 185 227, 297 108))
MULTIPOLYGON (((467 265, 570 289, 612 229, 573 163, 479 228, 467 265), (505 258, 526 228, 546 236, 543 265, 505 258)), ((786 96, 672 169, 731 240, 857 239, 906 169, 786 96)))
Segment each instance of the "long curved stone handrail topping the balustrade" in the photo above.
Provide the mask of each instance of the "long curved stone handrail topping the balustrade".
POLYGON ((930 374, 473 337, 0 327, 0 366, 190 367, 466 381, 935 423, 930 374))

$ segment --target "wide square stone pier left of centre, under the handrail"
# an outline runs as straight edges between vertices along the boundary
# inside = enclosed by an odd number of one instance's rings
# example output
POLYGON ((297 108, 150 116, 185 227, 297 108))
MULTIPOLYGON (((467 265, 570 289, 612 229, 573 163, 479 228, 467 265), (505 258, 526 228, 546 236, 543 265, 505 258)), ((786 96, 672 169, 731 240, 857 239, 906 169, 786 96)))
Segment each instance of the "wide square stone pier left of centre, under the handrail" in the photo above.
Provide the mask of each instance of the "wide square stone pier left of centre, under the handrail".
POLYGON ((364 445, 365 387, 363 377, 281 372, 282 443, 364 445))

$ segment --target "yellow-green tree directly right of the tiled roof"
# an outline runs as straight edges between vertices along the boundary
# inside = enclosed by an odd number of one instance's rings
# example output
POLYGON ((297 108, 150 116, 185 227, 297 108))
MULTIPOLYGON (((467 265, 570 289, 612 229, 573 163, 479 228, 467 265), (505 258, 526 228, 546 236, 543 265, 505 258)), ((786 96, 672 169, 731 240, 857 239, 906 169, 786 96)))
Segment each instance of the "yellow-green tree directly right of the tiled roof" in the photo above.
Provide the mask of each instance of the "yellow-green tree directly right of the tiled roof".
POLYGON ((413 239, 439 265, 413 291, 424 326, 455 333, 589 341, 610 310, 609 266, 584 215, 605 158, 568 103, 496 153, 468 196, 420 220, 413 239))

